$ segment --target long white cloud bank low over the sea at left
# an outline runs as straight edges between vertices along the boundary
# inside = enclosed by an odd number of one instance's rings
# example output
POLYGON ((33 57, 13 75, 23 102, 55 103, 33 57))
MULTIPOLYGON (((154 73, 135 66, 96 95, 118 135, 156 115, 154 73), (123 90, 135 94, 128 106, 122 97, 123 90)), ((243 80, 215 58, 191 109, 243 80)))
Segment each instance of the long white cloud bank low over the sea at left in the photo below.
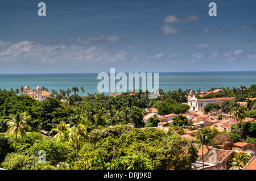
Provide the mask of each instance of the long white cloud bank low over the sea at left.
MULTIPOLYGON (((1 42, 0 44, 3 44, 1 42)), ((119 50, 108 52, 105 47, 83 47, 77 45, 48 45, 34 44, 22 41, 5 45, 0 48, 0 62, 5 63, 78 63, 78 64, 106 64, 108 62, 123 61, 127 53, 119 50)))

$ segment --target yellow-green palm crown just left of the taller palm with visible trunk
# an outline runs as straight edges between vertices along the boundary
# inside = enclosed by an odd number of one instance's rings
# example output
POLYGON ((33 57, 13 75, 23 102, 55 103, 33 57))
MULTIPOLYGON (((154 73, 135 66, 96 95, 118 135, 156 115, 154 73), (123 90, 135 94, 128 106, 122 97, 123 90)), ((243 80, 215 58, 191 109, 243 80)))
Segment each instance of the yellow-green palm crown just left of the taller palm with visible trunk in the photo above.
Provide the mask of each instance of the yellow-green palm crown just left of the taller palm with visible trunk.
POLYGON ((67 140, 69 127, 70 124, 66 124, 65 121, 60 121, 59 125, 57 125, 57 128, 52 129, 53 132, 57 132, 53 139, 55 139, 56 142, 67 140))

